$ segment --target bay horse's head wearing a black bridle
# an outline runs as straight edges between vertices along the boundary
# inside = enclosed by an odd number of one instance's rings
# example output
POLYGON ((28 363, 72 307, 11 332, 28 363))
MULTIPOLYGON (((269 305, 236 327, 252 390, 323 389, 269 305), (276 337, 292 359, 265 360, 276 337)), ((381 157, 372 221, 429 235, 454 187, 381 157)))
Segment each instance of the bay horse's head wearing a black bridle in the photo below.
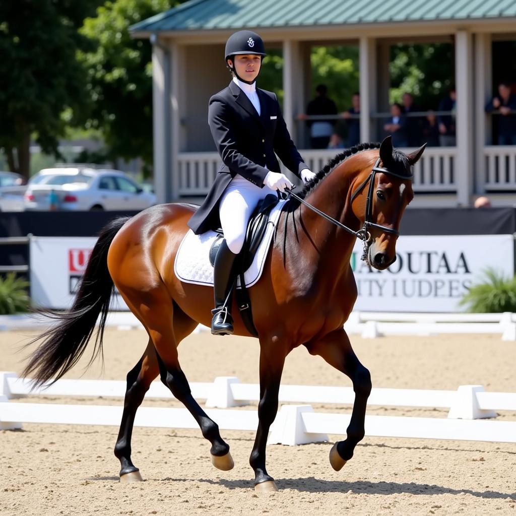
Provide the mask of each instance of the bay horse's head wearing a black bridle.
POLYGON ((364 257, 376 269, 386 269, 396 260, 396 240, 405 208, 414 197, 411 167, 420 159, 426 143, 405 154, 393 150, 391 137, 383 140, 375 160, 359 173, 351 193, 353 214, 367 235, 364 257))

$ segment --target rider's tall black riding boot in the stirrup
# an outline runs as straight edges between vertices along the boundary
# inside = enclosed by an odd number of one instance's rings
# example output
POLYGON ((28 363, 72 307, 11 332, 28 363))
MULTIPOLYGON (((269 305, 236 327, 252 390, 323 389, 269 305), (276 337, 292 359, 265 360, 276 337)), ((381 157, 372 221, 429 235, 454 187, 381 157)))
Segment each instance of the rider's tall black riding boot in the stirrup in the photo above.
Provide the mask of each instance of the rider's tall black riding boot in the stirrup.
POLYGON ((213 266, 215 309, 212 310, 212 333, 214 335, 233 334, 233 318, 230 313, 231 299, 227 298, 233 282, 231 271, 236 256, 236 254, 231 252, 225 239, 223 239, 215 256, 215 264, 213 266))

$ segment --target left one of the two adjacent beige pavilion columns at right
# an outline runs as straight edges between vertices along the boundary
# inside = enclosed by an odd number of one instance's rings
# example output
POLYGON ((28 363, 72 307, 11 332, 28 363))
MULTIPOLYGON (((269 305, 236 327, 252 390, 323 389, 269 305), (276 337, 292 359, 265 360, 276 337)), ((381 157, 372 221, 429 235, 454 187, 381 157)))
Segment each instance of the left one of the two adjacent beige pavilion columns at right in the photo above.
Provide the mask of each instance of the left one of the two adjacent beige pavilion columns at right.
POLYGON ((466 30, 455 33, 455 85, 457 89, 457 155, 455 182, 457 202, 469 206, 473 193, 473 55, 472 36, 466 30))

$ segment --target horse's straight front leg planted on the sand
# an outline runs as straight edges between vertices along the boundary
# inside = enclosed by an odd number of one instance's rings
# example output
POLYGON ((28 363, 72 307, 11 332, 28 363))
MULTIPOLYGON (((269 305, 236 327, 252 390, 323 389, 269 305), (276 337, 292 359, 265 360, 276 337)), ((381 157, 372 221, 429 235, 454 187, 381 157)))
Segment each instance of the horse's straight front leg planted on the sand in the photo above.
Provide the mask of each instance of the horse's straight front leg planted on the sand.
POLYGON ((278 411, 278 393, 281 374, 287 352, 275 336, 269 339, 260 338, 260 403, 258 405, 258 429, 254 446, 249 458, 254 470, 254 489, 256 491, 278 491, 274 479, 267 474, 265 467, 265 448, 269 428, 278 411))

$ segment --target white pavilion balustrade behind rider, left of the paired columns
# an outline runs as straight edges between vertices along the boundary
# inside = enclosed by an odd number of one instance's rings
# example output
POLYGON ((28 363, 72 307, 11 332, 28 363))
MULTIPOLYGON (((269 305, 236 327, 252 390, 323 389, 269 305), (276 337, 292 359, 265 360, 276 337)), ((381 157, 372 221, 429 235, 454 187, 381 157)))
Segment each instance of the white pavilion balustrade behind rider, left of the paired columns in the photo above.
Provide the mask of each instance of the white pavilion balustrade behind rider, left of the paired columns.
MULTIPOLYGON (((410 152, 414 149, 403 149, 410 152)), ((300 150, 313 171, 321 170, 330 159, 342 152, 335 149, 300 150)), ((414 190, 420 192, 455 192, 456 148, 427 148, 414 167, 414 190)), ((180 196, 204 196, 212 185, 220 166, 216 152, 183 152, 178 157, 180 196)), ((282 166, 282 171, 284 167, 282 166)))

